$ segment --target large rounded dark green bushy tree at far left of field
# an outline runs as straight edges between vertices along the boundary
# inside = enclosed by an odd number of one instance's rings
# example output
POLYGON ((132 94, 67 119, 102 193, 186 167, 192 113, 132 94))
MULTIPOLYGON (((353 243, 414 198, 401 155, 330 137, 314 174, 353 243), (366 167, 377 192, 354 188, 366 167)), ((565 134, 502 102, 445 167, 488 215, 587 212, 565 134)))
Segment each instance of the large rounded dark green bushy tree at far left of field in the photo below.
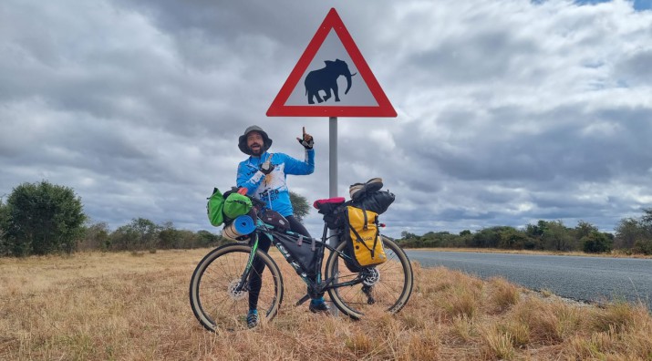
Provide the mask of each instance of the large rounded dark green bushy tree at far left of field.
POLYGON ((72 253, 83 235, 81 200, 67 187, 43 180, 17 186, 7 199, 10 253, 72 253))

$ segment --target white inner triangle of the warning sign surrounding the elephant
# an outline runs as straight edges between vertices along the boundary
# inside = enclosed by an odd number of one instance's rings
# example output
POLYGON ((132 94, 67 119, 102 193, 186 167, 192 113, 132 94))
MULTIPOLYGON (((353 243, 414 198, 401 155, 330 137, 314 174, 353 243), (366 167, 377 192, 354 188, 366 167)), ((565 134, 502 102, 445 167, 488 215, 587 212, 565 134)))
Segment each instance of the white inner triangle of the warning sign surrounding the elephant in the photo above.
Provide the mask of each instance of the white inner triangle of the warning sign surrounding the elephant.
POLYGON ((347 50, 332 29, 310 62, 304 75, 301 77, 301 81, 296 84, 295 89, 290 93, 290 97, 285 101, 285 105, 310 105, 309 97, 312 98, 312 104, 325 107, 378 107, 376 98, 374 98, 371 90, 367 87, 367 82, 360 76, 356 65, 351 60, 351 57, 348 56, 347 50), (342 61, 343 64, 336 62, 336 60, 342 61), (330 63, 326 65, 326 61, 330 63), (311 78, 308 78, 306 81, 308 74, 313 71, 315 71, 313 76, 319 75, 319 80, 322 80, 321 82, 311 82, 311 78), (347 90, 346 74, 353 74, 350 77, 351 88, 349 88, 348 93, 345 93, 347 90), (333 81, 336 82, 336 87, 331 87, 333 81), (309 91, 310 87, 312 87, 315 93, 309 91), (330 93, 330 98, 326 98, 327 93, 330 93), (323 102, 319 102, 316 96, 319 96, 323 102), (339 98, 339 101, 337 101, 337 98, 339 98))

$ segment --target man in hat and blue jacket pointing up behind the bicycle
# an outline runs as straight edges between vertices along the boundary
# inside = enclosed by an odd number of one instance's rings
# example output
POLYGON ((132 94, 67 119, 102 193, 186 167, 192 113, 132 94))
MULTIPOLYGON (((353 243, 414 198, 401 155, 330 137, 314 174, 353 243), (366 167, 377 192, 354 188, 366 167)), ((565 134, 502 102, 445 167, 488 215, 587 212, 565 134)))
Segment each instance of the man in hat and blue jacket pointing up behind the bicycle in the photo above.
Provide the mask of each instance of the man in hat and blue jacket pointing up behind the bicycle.
MULTIPOLYGON (((238 165, 238 176, 236 183, 240 193, 254 196, 267 205, 268 208, 278 211, 290 223, 290 230, 306 237, 310 233, 304 225, 299 222, 292 209, 290 202, 290 191, 287 189, 285 179, 288 174, 307 175, 315 170, 314 140, 310 134, 303 129, 303 137, 297 138, 305 148, 305 160, 296 160, 284 153, 268 153, 272 146, 272 139, 267 133, 257 126, 251 126, 244 130, 238 139, 238 148, 250 157, 238 165)), ((261 237, 258 248, 267 252, 271 241, 267 237, 261 237)), ((258 294, 261 289, 261 278, 259 274, 264 271, 264 263, 254 261, 254 273, 249 283, 249 313, 247 324, 254 327, 258 324, 257 311, 258 294)), ((323 295, 310 301, 311 312, 327 312, 328 305, 324 302, 323 295)))

